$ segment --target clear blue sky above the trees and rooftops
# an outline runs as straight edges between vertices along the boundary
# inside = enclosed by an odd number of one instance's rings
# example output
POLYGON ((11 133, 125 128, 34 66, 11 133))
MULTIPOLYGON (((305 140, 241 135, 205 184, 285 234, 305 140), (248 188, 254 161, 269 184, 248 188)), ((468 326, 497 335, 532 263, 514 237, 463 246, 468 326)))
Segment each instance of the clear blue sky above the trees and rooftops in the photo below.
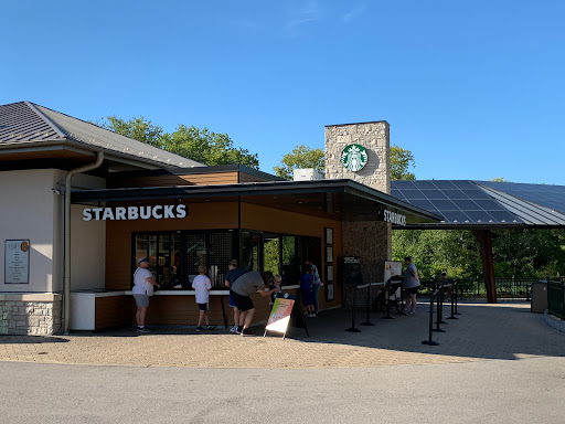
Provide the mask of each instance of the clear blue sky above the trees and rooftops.
POLYGON ((565 184, 565 1, 0 2, 0 104, 227 132, 385 119, 417 179, 565 184))

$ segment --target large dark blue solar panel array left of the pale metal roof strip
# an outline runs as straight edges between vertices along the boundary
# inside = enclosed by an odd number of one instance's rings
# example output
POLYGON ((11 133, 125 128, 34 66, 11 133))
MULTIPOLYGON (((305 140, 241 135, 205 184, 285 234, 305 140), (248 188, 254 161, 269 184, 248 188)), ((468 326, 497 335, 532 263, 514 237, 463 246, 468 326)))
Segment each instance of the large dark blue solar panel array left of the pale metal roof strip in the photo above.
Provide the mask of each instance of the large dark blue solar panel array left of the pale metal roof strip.
POLYGON ((472 181, 391 181, 391 194, 415 206, 445 216, 458 225, 508 224, 523 221, 472 181))

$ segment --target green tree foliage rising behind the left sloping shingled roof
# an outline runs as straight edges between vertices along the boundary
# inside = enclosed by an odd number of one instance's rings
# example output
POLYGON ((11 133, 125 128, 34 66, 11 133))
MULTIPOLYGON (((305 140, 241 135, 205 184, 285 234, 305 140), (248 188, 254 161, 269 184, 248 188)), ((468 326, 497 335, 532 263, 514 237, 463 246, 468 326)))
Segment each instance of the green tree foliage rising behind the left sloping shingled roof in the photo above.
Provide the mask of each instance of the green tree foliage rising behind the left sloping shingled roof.
POLYGON ((259 169, 256 153, 234 147, 227 134, 216 134, 207 128, 199 129, 181 124, 169 134, 142 116, 129 120, 108 116, 96 125, 205 165, 244 165, 259 169))

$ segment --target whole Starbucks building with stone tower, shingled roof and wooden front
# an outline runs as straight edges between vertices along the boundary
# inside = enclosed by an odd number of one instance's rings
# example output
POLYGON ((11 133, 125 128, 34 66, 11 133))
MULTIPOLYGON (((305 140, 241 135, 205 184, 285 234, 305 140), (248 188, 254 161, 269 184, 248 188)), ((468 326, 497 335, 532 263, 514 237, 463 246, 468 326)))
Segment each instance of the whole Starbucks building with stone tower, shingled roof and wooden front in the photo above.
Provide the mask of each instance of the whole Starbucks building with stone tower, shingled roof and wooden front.
MULTIPOLYGON (((243 166, 207 167, 29 102, 0 106, 0 333, 131 325, 132 273, 147 256, 161 288, 147 322, 195 325, 191 282, 212 279, 211 320, 232 325, 227 264, 297 288, 318 266, 320 309, 343 304, 342 258, 382 282, 392 225, 441 216, 390 194, 386 121, 326 127, 326 174, 294 181, 243 166)), ((255 299, 257 322, 268 301, 255 299)))

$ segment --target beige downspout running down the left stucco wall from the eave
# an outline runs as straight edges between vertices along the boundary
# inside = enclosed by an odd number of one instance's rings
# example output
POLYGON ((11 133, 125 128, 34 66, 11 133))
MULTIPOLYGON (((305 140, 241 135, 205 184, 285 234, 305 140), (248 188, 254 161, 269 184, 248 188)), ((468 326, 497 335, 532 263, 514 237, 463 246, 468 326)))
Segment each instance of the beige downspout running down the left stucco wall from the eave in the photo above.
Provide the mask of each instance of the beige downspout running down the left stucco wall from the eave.
POLYGON ((68 335, 68 324, 71 321, 71 180, 77 173, 92 171, 98 168, 104 161, 104 152, 98 151, 97 158, 94 163, 85 165, 81 168, 71 169, 65 178, 65 209, 63 212, 63 220, 65 221, 65 235, 64 235, 64 272, 63 272, 63 312, 65 317, 64 333, 68 335))

